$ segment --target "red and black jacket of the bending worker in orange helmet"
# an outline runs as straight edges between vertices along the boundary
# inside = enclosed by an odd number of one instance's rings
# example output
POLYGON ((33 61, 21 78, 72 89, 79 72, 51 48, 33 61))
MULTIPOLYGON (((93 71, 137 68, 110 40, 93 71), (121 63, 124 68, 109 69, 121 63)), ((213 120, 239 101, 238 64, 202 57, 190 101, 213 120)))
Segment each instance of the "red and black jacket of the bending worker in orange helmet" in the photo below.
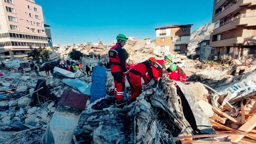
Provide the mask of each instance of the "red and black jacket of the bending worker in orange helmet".
POLYGON ((129 70, 129 72, 141 76, 146 84, 149 82, 146 78, 146 73, 148 73, 150 77, 149 80, 154 79, 152 65, 148 60, 136 64, 132 69, 129 70))

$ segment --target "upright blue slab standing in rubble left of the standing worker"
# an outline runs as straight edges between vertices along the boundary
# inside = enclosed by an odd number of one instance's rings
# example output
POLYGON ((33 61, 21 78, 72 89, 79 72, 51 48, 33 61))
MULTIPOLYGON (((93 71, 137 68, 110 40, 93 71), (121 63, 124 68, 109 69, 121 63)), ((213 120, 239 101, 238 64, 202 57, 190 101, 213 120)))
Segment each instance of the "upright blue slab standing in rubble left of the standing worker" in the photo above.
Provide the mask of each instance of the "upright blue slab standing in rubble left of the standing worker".
POLYGON ((91 103, 106 95, 106 70, 102 66, 93 67, 91 85, 91 103))

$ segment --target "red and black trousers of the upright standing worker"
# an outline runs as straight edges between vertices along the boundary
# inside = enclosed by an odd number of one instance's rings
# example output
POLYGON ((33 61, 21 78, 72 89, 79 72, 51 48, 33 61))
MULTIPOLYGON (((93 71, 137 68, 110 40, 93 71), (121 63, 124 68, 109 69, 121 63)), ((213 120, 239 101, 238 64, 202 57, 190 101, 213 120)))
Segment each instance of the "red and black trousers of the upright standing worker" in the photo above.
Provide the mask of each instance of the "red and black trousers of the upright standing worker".
POLYGON ((121 101, 125 89, 125 75, 122 72, 112 72, 115 84, 115 95, 116 100, 121 101))

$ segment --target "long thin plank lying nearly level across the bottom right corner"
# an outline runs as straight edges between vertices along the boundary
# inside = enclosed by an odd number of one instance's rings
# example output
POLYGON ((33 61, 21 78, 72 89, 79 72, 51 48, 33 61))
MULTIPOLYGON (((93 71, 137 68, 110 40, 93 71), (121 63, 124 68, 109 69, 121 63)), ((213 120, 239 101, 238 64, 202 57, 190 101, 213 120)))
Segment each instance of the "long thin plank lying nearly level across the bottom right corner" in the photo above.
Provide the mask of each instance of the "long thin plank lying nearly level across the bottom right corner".
POLYGON ((217 136, 239 136, 239 135, 251 135, 251 136, 256 136, 256 134, 252 133, 247 133, 247 134, 242 134, 242 133, 224 133, 224 134, 205 134, 205 135, 190 135, 190 136, 179 136, 179 137, 173 137, 173 139, 185 139, 185 138, 203 138, 203 137, 217 137, 217 136))

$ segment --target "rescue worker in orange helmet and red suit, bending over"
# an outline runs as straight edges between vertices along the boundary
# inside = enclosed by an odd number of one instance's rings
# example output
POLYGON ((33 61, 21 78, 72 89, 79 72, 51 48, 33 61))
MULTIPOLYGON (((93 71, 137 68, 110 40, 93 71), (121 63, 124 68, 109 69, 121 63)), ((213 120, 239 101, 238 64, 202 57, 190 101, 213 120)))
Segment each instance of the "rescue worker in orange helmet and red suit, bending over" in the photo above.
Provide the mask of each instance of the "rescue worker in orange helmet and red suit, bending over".
POLYGON ((130 78, 128 82, 131 86, 132 96, 130 98, 131 102, 136 100, 141 94, 142 86, 141 86, 141 77, 143 78, 146 85, 148 85, 149 81, 146 78, 146 73, 148 73, 150 80, 154 79, 153 72, 152 72, 152 65, 156 64, 156 58, 151 57, 148 60, 136 64, 132 69, 129 70, 130 78))

